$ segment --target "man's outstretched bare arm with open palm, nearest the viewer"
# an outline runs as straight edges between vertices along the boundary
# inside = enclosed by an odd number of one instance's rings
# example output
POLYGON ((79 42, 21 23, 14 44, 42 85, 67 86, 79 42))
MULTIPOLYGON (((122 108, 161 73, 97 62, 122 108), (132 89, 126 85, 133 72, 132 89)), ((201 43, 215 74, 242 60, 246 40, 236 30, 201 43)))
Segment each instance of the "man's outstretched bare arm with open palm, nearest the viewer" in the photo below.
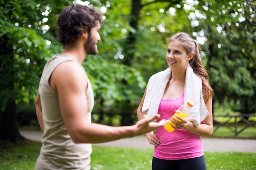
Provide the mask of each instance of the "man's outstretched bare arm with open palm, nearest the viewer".
POLYGON ((58 94, 61 115, 75 143, 102 143, 134 137, 153 131, 168 122, 168 120, 159 123, 151 122, 160 117, 156 115, 139 120, 133 126, 112 127, 88 123, 86 121, 88 105, 85 96, 85 89, 88 85, 87 77, 84 70, 73 61, 58 65, 52 73, 50 85, 58 94))

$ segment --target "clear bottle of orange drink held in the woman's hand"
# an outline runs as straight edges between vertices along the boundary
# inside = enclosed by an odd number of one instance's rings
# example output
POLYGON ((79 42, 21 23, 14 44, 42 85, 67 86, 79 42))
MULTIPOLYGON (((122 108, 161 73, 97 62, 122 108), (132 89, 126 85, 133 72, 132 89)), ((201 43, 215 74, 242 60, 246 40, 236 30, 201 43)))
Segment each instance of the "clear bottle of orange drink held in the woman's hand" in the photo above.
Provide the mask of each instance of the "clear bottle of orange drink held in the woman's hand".
MULTIPOLYGON (((174 117, 177 118, 176 116, 180 116, 181 118, 186 118, 190 111, 191 111, 191 108, 193 107, 194 103, 189 100, 186 102, 186 105, 181 105, 179 109, 175 110, 175 113, 174 113, 174 117), (181 112, 182 111, 182 112, 181 112)), ((179 119, 178 119, 179 120, 179 119)), ((180 120, 179 120, 180 121, 180 120)), ((181 121, 180 121, 181 122, 181 121)), ((174 131, 174 128, 171 126, 171 124, 173 124, 173 122, 170 122, 169 123, 166 123, 164 125, 164 128, 166 129, 166 131, 168 132, 173 132, 174 131)), ((173 124, 174 125, 174 124, 173 124)), ((174 125, 175 126, 175 125, 174 125)))

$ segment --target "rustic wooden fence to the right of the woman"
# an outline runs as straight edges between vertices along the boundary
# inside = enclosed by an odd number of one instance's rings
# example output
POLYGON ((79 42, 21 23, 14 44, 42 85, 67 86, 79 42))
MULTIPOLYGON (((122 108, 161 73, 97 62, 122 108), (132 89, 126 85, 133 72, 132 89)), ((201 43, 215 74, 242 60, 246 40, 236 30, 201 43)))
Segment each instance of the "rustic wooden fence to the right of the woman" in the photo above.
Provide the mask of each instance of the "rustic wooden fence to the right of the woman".
MULTIPOLYGON (((213 134, 222 126, 225 126, 227 127, 232 133, 234 133, 236 136, 241 133, 242 131, 244 131, 245 129, 247 129, 248 127, 250 126, 254 126, 256 127, 256 121, 249 121, 245 118, 249 118, 249 117, 256 117, 255 114, 240 114, 240 115, 234 115, 234 116, 214 116, 213 117, 213 124, 214 126, 216 126, 216 128, 214 129, 213 131, 213 134), (225 122, 218 122, 215 118, 218 118, 218 117, 226 117, 228 118, 225 122), (235 121, 234 121, 234 126, 230 126, 230 123, 229 121, 234 118, 235 121), (238 130, 238 122, 245 122, 247 125, 244 126, 242 129, 239 129, 238 130)), ((255 120, 255 119, 254 119, 255 120)))

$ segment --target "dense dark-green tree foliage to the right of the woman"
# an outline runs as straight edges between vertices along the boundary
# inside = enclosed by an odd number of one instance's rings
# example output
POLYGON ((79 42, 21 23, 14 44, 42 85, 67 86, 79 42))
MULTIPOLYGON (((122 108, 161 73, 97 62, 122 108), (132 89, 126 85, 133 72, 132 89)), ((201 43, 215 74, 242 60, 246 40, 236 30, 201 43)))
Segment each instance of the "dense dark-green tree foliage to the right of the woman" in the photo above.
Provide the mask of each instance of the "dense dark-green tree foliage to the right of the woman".
POLYGON ((215 101, 228 100, 239 113, 256 113, 256 2, 200 2, 197 12, 205 17, 194 18, 199 21, 196 36, 207 39, 204 52, 215 101))

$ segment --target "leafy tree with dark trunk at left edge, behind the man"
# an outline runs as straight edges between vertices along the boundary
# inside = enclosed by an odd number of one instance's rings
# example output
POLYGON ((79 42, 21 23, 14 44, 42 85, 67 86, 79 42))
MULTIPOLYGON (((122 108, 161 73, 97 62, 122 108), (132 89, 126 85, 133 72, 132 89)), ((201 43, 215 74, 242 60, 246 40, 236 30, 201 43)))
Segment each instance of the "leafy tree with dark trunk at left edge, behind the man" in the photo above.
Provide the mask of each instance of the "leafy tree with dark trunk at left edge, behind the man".
POLYGON ((35 1, 19 0, 0 2, 0 140, 16 142, 22 139, 18 131, 16 102, 31 98, 41 63, 49 57, 46 39, 41 28, 42 11, 46 5, 35 1), (40 26, 41 24, 41 26, 40 26), (29 57, 28 57, 29 56, 29 57))

